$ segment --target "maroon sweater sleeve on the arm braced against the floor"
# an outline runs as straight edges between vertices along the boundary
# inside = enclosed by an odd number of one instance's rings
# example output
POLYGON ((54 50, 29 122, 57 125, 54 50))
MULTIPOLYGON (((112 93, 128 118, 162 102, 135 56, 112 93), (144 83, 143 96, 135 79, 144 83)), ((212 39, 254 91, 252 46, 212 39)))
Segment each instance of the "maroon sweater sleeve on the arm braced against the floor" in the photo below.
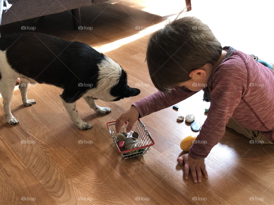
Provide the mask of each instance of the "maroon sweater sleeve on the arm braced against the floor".
POLYGON ((212 76, 210 107, 200 134, 189 149, 192 158, 206 158, 225 134, 225 125, 247 91, 248 73, 245 64, 222 65, 212 76))

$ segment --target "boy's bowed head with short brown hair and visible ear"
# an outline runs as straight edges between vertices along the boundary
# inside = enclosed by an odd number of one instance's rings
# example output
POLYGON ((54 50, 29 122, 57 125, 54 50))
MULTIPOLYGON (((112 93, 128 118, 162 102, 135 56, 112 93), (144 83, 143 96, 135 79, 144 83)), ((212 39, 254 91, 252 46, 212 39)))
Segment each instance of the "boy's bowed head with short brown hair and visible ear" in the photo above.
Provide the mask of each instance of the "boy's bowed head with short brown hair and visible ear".
POLYGON ((220 42, 206 24, 195 17, 183 17, 150 36, 146 61, 151 80, 160 91, 176 86, 196 91, 204 88, 197 85, 207 83, 210 73, 206 68, 217 62, 221 53, 220 42))

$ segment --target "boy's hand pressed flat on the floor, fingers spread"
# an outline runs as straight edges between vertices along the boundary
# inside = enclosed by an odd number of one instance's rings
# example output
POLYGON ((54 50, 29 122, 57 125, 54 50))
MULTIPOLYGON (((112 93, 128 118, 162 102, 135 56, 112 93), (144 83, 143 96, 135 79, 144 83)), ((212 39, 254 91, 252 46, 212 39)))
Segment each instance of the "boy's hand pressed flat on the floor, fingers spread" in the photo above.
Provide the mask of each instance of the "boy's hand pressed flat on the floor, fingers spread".
POLYGON ((191 171, 192 180, 194 183, 197 183, 197 176, 198 182, 202 182, 202 172, 204 173, 204 177, 207 179, 207 172, 205 168, 205 159, 193 159, 188 153, 183 154, 182 156, 178 157, 177 159, 179 165, 184 166, 184 179, 188 179, 188 172, 191 171), (201 172, 202 170, 202 172, 201 172), (197 174, 196 174, 197 172, 197 174))

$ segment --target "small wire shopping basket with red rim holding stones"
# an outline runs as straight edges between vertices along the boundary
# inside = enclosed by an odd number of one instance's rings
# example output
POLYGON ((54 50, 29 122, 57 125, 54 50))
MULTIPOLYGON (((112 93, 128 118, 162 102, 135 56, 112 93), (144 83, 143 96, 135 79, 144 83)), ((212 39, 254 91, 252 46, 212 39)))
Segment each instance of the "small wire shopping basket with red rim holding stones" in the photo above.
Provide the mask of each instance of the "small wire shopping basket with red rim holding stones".
MULTIPOLYGON (((115 130, 115 122, 107 122, 106 126, 108 127, 109 134, 112 135, 113 142, 115 143, 118 152, 125 158, 131 158, 136 157, 139 155, 144 155, 147 153, 147 151, 150 149, 150 146, 154 145, 154 141, 152 140, 152 137, 150 136, 150 133, 146 130, 144 123, 138 119, 137 124, 132 126, 132 131, 135 131, 138 133, 137 144, 138 147, 134 149, 129 150, 121 150, 118 146, 118 141, 116 140, 116 136, 118 133, 116 133, 115 130)), ((124 124, 122 128, 120 129, 120 133, 126 132, 126 125, 124 124)))

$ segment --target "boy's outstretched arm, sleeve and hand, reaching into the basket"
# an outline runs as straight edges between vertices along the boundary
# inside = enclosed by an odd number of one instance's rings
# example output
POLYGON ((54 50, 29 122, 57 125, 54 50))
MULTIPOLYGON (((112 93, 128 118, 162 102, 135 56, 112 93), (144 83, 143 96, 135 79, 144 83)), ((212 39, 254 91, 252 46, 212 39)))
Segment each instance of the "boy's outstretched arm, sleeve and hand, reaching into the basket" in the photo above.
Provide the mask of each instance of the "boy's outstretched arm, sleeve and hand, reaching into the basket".
POLYGON ((179 103, 197 92, 198 91, 190 91, 184 87, 176 87, 172 89, 170 93, 158 91, 148 97, 145 97, 132 104, 130 109, 124 112, 116 120, 116 132, 119 132, 123 124, 127 123, 127 132, 129 132, 138 118, 179 103))

